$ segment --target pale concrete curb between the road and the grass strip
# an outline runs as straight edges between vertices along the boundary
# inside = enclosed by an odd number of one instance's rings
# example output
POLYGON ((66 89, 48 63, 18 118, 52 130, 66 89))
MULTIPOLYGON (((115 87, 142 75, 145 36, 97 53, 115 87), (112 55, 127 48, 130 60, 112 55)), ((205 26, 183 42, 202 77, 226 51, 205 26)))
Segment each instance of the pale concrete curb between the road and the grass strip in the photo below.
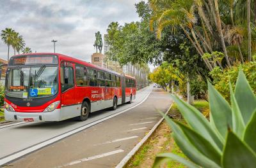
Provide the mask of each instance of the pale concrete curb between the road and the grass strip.
MULTIPOLYGON (((173 102, 170 108, 168 108, 167 111, 164 113, 164 115, 166 115, 170 111, 170 109, 172 108, 172 105, 173 105, 173 102)), ((148 134, 145 137, 143 137, 143 139, 141 139, 141 141, 138 144, 136 144, 136 146, 121 160, 121 162, 119 162, 119 164, 116 165, 116 168, 124 167, 129 162, 129 160, 131 160, 131 158, 137 153, 138 150, 140 150, 141 146, 155 132, 155 130, 160 125, 160 123, 163 122, 163 120, 164 118, 162 117, 161 120, 159 120, 159 122, 157 122, 156 125, 154 125, 154 127, 150 130, 150 132, 148 132, 148 134)))

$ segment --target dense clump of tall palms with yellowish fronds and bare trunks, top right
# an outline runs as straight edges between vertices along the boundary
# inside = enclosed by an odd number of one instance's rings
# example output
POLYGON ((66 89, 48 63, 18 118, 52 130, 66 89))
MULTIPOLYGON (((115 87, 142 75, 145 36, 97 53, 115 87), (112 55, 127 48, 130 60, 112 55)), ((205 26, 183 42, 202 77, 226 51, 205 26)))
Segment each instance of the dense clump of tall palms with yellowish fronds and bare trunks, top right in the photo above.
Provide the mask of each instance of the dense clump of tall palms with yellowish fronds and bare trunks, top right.
POLYGON ((250 61, 248 45, 252 45, 252 53, 256 52, 256 43, 253 42, 256 39, 255 0, 248 4, 252 10, 248 12, 252 13, 251 19, 247 19, 246 13, 250 10, 246 8, 246 2, 248 1, 150 0, 150 27, 159 39, 163 38, 165 29, 172 30, 172 34, 179 33, 181 29, 198 55, 204 59, 209 71, 216 66, 223 69, 237 61, 250 61), (205 53, 214 51, 223 53, 221 57, 225 59, 218 60, 215 64, 214 57, 205 57, 205 53))

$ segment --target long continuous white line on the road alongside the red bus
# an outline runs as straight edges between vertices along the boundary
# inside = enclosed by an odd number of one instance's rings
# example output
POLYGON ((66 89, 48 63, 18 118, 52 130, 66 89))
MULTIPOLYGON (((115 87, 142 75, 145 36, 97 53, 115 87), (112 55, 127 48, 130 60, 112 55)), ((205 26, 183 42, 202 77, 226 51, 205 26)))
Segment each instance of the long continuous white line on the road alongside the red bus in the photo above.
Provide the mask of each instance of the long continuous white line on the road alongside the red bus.
POLYGON ((0 166, 3 165, 3 164, 6 164, 8 162, 11 162, 12 160, 15 160, 17 158, 20 158, 20 157, 22 157, 22 156, 24 156, 24 155, 26 155, 28 153, 31 153, 31 152, 33 152, 35 150, 43 148, 44 146, 47 146, 47 145, 52 144, 52 143, 55 143, 56 141, 60 141, 61 139, 65 138, 65 137, 71 136, 72 134, 76 134, 77 132, 80 132, 81 130, 84 130, 84 129, 87 129, 89 127, 92 127, 93 125, 96 125, 97 123, 104 122, 106 120, 109 120, 110 118, 113 118, 113 117, 118 116, 118 115, 120 115, 122 113, 125 113, 126 111, 129 111, 129 110, 131 110, 133 108, 136 108, 137 106, 140 106, 140 104, 142 104, 143 102, 145 102, 147 100, 147 98, 151 94, 152 90, 153 89, 151 88, 150 92, 148 92, 146 97, 141 102, 138 102, 138 104, 135 104, 131 108, 124 109, 123 111, 120 111, 120 112, 115 113, 113 115, 109 115, 109 116, 107 116, 105 118, 102 118, 100 120, 97 120, 95 122, 88 123, 87 125, 84 125, 84 126, 79 127, 77 129, 68 131, 68 132, 66 132, 64 134, 61 134, 60 136, 53 137, 51 139, 48 139, 47 141, 44 141, 44 142, 39 143, 39 144, 36 144, 35 146, 31 146, 31 147, 26 148, 24 150, 18 151, 17 153, 13 153, 12 155, 8 155, 7 157, 1 158, 0 159, 0 166))

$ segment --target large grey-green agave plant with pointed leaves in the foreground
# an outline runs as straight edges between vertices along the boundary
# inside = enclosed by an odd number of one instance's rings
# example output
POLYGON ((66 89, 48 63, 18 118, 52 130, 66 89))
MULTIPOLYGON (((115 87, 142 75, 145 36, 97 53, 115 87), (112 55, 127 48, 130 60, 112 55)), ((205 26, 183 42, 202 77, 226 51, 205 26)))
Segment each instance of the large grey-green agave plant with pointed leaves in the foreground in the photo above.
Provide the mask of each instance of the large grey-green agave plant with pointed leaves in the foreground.
POLYGON ((243 71, 235 90, 230 85, 230 104, 208 82, 210 122, 193 106, 172 95, 188 126, 164 116, 186 160, 173 153, 157 155, 153 167, 177 160, 187 167, 256 166, 256 97, 243 71))

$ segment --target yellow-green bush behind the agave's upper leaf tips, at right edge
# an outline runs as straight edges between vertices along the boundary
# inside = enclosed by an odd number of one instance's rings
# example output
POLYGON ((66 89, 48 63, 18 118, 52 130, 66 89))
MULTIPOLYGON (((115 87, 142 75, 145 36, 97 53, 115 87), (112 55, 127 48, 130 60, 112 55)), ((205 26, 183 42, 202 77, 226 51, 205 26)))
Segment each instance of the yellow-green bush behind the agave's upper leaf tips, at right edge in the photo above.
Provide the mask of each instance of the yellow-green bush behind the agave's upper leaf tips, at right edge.
POLYGON ((243 69, 244 74, 246 75, 247 80, 252 87, 254 93, 256 93, 256 62, 247 62, 244 64, 234 64, 234 66, 221 70, 216 67, 210 73, 213 78, 214 87, 227 99, 230 100, 230 94, 228 92, 228 82, 230 81, 232 87, 235 87, 236 78, 239 72, 239 68, 243 69))

